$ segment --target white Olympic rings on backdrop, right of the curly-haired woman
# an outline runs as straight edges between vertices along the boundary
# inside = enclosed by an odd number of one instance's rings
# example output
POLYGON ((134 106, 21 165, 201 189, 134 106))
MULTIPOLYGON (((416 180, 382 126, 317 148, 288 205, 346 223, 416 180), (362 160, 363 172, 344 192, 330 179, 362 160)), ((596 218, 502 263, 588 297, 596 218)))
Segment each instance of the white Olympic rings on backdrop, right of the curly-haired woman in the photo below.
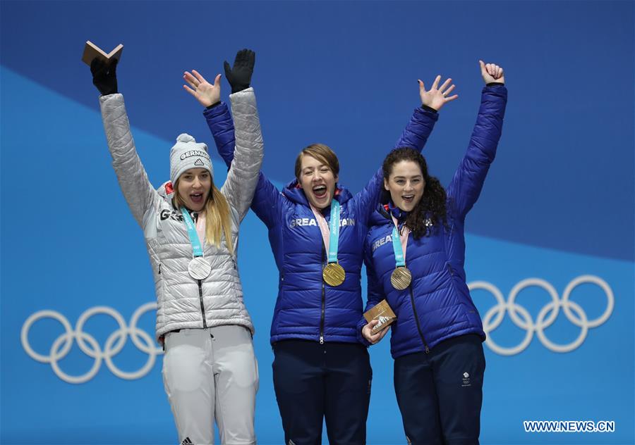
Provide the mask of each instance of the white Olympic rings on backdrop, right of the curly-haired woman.
POLYGON ((570 352, 574 349, 578 348, 584 339, 586 339, 586 335, 588 334, 588 330, 591 327, 598 327, 603 324, 610 317, 613 312, 613 307, 615 306, 615 297, 613 296, 613 291, 610 286, 602 280, 600 277, 596 277, 595 275, 581 275, 579 277, 571 280, 567 287, 564 289, 562 294, 562 299, 558 296, 558 293, 554 289, 554 287, 546 282, 545 280, 541 280, 540 278, 527 278, 526 280, 522 280, 514 288, 511 292, 509 292, 509 297, 507 301, 504 300, 502 293, 500 290, 494 286, 493 284, 485 281, 475 281, 468 284, 468 288, 473 291, 476 289, 483 289, 485 291, 490 292, 494 296, 497 301, 497 304, 490 308, 487 313, 485 313, 485 317, 483 317, 483 330, 485 334, 487 334, 487 339, 485 340, 485 344, 487 344, 492 351, 495 353, 499 353, 502 356, 513 356, 514 354, 521 353, 524 351, 527 346, 531 343, 531 339, 533 339, 533 334, 536 332, 536 336, 540 339, 540 342, 545 346, 545 348, 550 349, 554 352, 570 352), (571 296, 571 292, 578 287, 580 284, 596 284, 600 289, 602 289, 606 296, 606 309, 602 315, 594 320, 589 320, 586 316, 586 312, 583 311, 581 306, 575 301, 571 301, 569 296, 571 296), (551 297, 550 303, 545 305, 540 312, 538 313, 538 318, 536 322, 533 321, 531 315, 528 311, 523 307, 516 304, 516 296, 527 287, 540 287, 545 289, 551 297), (571 341, 569 344, 557 344, 547 338, 545 334, 545 329, 550 327, 553 322, 555 322, 558 313, 560 313, 560 308, 564 311, 564 315, 567 319, 573 323, 574 325, 581 328, 580 334, 574 341, 571 341), (490 332, 495 330, 500 326, 502 320, 505 316, 505 313, 509 313, 509 317, 512 319, 514 324, 521 329, 526 330, 526 334, 524 339, 517 346, 511 348, 505 348, 503 346, 499 346, 495 344, 494 340, 490 335, 490 332))

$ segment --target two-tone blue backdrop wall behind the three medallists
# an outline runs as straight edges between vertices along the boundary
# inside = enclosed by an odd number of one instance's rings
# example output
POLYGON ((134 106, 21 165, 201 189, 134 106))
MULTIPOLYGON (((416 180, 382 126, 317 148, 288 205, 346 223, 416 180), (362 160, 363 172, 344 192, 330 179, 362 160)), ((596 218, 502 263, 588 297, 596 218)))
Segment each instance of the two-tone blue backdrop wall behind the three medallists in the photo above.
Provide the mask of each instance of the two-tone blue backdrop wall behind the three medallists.
MULTIPOLYGON (((90 39, 125 46, 119 90, 156 185, 177 134, 214 151, 183 71, 211 80, 243 47, 257 54, 265 173, 290 180, 296 153, 322 142, 353 192, 420 103, 416 80, 437 74, 459 94, 425 148, 447 184, 476 118, 477 61, 502 65, 503 137, 466 222, 468 282, 489 331, 481 441, 634 443, 634 5, 1 1, 0 441, 176 442, 143 234, 80 61, 90 39), (615 432, 528 433, 524 420, 611 420, 615 432)), ((214 170, 225 170, 218 158, 214 170)), ((277 271, 253 213, 239 265, 257 330, 258 439, 279 444, 277 271)), ((370 350, 369 444, 405 442, 388 346, 370 350)))

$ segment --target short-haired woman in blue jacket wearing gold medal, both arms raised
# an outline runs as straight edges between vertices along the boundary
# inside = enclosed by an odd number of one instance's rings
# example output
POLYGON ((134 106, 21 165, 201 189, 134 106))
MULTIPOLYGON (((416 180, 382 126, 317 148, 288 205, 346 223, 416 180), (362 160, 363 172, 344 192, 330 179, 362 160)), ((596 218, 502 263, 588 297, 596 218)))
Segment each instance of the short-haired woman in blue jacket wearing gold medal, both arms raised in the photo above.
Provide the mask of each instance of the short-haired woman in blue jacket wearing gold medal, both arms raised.
MULTIPOLYGON (((226 63, 232 92, 248 87, 253 62, 238 54, 226 63)), ((186 73, 193 91, 214 88, 197 73, 186 73)), ((420 93, 396 146, 421 151, 437 110, 456 96, 454 85, 437 77, 420 93), (435 109, 436 108, 436 109, 435 109)), ((205 118, 219 153, 231 165, 234 125, 225 104, 204 103, 205 118)), ((330 444, 364 444, 371 370, 357 322, 362 315, 360 275, 368 218, 382 188, 378 170, 356 195, 341 187, 339 162, 323 144, 312 144, 296 159, 294 180, 279 191, 260 173, 251 208, 269 230, 279 270, 279 292, 271 327, 274 388, 286 444, 320 444, 326 421, 330 444)))

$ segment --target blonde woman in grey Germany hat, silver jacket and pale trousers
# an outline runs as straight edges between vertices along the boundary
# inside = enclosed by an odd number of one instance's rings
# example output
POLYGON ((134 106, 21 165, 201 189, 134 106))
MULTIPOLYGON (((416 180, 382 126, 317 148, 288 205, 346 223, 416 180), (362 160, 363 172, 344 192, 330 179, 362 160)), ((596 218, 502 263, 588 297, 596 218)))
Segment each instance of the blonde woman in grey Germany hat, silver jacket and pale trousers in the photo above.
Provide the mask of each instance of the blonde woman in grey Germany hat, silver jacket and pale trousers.
POLYGON ((262 163, 262 136, 252 88, 231 94, 234 163, 220 189, 207 146, 181 134, 170 151, 170 179, 147 179, 117 92, 116 61, 92 61, 93 83, 115 173, 143 229, 157 293, 157 339, 164 343, 164 385, 179 443, 255 444, 258 363, 253 324, 236 267, 238 225, 262 163))

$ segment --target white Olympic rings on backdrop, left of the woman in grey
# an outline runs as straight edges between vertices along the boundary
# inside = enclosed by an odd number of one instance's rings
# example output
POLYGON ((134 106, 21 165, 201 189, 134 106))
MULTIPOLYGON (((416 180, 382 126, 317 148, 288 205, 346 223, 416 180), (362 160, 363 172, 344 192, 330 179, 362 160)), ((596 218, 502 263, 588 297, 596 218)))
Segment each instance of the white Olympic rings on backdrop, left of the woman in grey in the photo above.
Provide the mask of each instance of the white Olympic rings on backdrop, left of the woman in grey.
POLYGON ((126 321, 123 320, 121 314, 115 311, 113 308, 109 308, 107 306, 96 306, 94 308, 90 308, 85 311, 80 318, 77 320, 77 325, 75 325, 75 329, 71 328, 71 324, 66 320, 66 317, 61 315, 61 313, 56 311, 38 311, 32 314, 27 320, 24 322, 22 327, 22 332, 20 334, 20 339, 22 341, 22 346, 25 351, 33 358, 42 363, 50 363, 51 368, 56 373, 56 375, 61 378, 64 382, 68 383, 85 383, 88 380, 95 377, 99 368, 102 365, 102 361, 106 362, 107 367, 111 372, 117 377, 125 380, 136 380, 145 376, 150 370, 152 366, 155 365, 156 357, 159 354, 163 353, 162 348, 157 347, 155 344, 155 340, 150 337, 150 334, 141 330, 137 327, 137 322, 143 313, 147 311, 156 310, 157 303, 150 302, 145 303, 143 306, 140 306, 134 313, 130 320, 130 326, 126 325, 126 321), (119 324, 119 329, 110 334, 108 339, 106 340, 106 344, 104 345, 104 349, 102 350, 95 337, 87 334, 83 331, 83 327, 85 322, 92 317, 92 315, 97 314, 106 314, 110 315, 114 320, 119 324), (33 323, 37 322, 37 320, 41 320, 42 318, 53 318, 61 323, 64 327, 64 332, 59 337, 53 341, 51 346, 51 350, 49 351, 48 356, 44 356, 40 353, 33 351, 31 345, 29 344, 29 330, 33 323), (148 358, 139 370, 134 372, 126 372, 117 368, 112 358, 116 356, 123 346, 126 344, 128 335, 131 337, 133 344, 137 346, 137 348, 143 353, 147 353, 148 358), (95 359, 95 363, 93 363, 92 368, 88 370, 84 375, 68 375, 66 372, 63 372, 59 367, 59 361, 66 357, 69 351, 71 351, 71 346, 73 346, 73 340, 77 339, 77 344, 79 348, 89 357, 95 359))

